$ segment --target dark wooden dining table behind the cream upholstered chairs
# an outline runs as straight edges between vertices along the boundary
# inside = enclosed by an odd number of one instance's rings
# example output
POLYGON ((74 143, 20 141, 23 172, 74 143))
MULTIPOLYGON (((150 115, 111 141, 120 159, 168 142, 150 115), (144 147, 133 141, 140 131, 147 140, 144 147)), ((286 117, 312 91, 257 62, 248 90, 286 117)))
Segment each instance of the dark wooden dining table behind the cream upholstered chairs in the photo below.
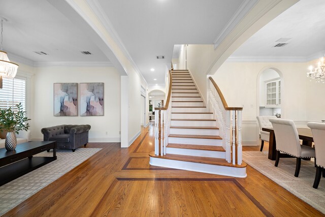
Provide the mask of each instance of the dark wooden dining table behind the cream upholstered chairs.
MULTIPOLYGON (((270 133, 270 139, 269 139, 269 159, 275 161, 276 157, 276 138, 274 134, 273 128, 262 128, 263 131, 270 133)), ((303 142, 303 145, 308 145, 312 147, 313 143, 313 135, 311 133, 311 130, 309 128, 297 128, 299 139, 301 139, 303 142)), ((292 158, 288 154, 281 153, 281 158, 292 158)))

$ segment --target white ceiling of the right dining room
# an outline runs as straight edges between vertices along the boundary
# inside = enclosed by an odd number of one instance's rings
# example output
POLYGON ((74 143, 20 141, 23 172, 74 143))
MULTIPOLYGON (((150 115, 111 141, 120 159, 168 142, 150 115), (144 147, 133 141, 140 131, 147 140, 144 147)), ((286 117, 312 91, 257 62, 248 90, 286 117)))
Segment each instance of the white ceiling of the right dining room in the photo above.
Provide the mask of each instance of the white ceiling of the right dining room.
POLYGON ((232 57, 280 56, 309 60, 322 52, 325 53, 325 1, 301 0, 261 28, 232 57), (280 38, 291 39, 283 47, 273 47, 280 38))

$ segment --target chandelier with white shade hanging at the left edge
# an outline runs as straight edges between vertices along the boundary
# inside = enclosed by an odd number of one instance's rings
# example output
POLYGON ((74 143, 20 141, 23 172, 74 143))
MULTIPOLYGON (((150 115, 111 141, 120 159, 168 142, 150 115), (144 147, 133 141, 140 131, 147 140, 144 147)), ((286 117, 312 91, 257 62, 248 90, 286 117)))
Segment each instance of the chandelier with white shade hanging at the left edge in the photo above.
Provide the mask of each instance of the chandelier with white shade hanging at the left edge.
POLYGON ((1 45, 0 45, 0 89, 3 87, 2 77, 14 78, 17 73, 18 65, 12 63, 5 51, 2 50, 3 42, 3 22, 7 21, 6 18, 0 17, 1 19, 1 45))

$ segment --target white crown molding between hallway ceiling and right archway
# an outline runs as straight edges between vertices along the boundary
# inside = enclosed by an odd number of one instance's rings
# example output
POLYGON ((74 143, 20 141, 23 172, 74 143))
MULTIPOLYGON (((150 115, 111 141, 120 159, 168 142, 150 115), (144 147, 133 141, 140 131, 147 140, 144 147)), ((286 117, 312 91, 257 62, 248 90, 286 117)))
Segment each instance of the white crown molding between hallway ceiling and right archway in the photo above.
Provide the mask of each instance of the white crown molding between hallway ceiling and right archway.
POLYGON ((256 5, 258 0, 245 0, 237 9, 231 20, 221 30, 221 33, 213 41, 214 49, 227 37, 246 14, 256 5))

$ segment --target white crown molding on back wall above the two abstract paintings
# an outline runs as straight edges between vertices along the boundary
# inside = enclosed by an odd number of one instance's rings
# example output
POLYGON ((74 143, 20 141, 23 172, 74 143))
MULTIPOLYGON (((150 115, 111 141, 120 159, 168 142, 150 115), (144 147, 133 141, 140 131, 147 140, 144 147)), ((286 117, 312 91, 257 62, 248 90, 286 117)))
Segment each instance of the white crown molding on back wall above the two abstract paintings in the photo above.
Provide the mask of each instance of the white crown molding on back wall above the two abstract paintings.
POLYGON ((114 67, 109 61, 36 62, 35 67, 114 67))

